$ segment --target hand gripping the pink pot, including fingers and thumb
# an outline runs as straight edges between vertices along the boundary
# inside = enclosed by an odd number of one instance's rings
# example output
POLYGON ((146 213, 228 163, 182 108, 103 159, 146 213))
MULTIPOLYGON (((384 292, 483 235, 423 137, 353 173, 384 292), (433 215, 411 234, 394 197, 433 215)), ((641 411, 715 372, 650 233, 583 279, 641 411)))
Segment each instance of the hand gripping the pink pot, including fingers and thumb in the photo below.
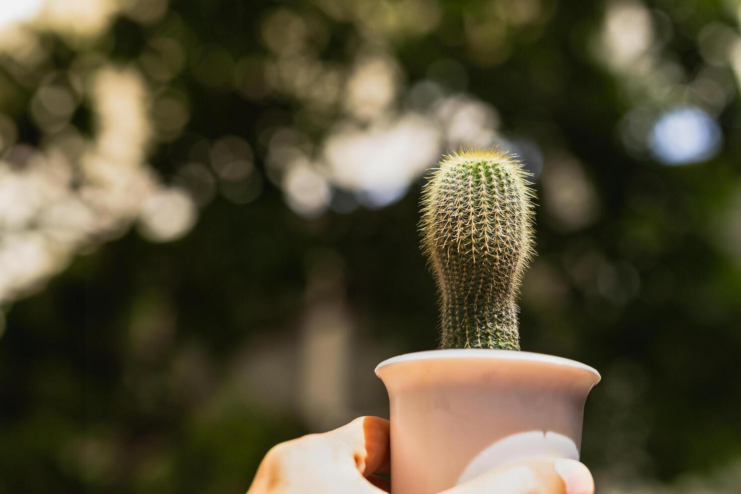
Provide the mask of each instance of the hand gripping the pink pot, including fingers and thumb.
MULTIPOLYGON (((376 473, 390 467, 388 421, 361 417, 328 433, 273 447, 247 494, 382 494, 390 485, 376 473)), ((566 459, 503 465, 444 494, 594 494, 587 468, 566 459)))

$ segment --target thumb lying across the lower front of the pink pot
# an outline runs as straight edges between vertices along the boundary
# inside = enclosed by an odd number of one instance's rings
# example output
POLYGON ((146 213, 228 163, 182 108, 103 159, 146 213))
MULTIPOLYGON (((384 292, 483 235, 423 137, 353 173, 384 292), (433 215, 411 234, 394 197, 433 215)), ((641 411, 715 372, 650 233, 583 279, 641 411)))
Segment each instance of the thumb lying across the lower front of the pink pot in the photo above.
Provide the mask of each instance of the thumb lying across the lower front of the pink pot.
POLYGON ((594 480, 587 467, 579 461, 535 459, 503 465, 444 491, 444 494, 479 493, 594 494, 594 480))

